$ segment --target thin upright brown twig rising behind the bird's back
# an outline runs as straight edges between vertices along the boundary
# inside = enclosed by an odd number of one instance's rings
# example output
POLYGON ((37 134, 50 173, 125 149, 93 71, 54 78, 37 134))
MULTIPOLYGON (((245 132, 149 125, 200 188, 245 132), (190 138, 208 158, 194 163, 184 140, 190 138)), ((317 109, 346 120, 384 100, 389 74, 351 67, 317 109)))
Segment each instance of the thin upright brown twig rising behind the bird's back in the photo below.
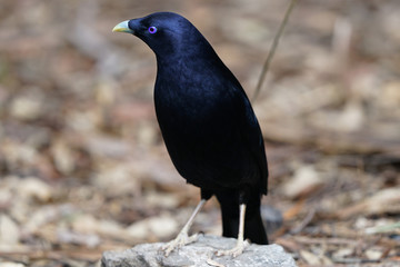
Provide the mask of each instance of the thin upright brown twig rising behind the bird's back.
POLYGON ((287 9, 287 11, 284 13, 283 20, 282 20, 281 24, 279 26, 279 29, 278 29, 278 32, 277 32, 276 37, 273 38, 272 47, 271 47, 270 52, 268 53, 268 57, 267 57, 267 60, 266 60, 264 65, 262 66, 260 79, 258 80, 258 83, 257 83, 257 87, 256 87, 256 90, 254 90, 254 95, 253 95, 253 97, 251 99, 252 101, 256 100, 256 98, 258 97, 258 95, 260 92, 261 86, 262 86, 262 83, 263 83, 263 81, 266 79, 267 71, 268 71, 269 66, 270 66, 270 63, 272 61, 272 57, 273 57, 273 55, 274 55, 274 52, 277 50, 279 39, 282 36, 283 29, 284 29, 286 24, 288 23, 290 13, 291 13, 292 9, 294 8, 296 2, 297 2, 297 0, 291 0, 290 1, 290 4, 289 4, 289 7, 288 7, 288 9, 287 9))

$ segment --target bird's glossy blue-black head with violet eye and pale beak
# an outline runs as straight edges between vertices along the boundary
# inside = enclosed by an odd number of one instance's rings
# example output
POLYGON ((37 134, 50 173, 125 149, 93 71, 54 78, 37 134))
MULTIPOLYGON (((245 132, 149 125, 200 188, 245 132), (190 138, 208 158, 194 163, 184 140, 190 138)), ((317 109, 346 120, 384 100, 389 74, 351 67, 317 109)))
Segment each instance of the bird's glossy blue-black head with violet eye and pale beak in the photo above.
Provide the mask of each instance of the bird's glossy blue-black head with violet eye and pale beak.
POLYGON ((143 40, 157 56, 170 56, 187 43, 203 39, 194 26, 180 14, 157 12, 122 21, 112 31, 127 32, 143 40))

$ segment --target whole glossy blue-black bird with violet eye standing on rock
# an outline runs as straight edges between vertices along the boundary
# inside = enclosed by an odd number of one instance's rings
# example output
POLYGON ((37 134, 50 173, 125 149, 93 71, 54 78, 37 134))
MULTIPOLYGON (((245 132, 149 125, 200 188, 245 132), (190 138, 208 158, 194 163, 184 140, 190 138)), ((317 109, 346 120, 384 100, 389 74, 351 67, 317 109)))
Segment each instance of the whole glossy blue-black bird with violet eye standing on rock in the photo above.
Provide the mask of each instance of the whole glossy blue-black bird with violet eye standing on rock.
POLYGON ((166 247, 168 256, 196 240, 188 230, 213 195, 222 212, 222 235, 237 246, 219 255, 240 255, 249 238, 268 244, 260 216, 267 195, 268 167, 260 126, 250 101, 211 44, 186 18, 157 12, 123 21, 128 32, 156 53, 154 105, 168 152, 179 174, 201 189, 201 201, 166 247))

